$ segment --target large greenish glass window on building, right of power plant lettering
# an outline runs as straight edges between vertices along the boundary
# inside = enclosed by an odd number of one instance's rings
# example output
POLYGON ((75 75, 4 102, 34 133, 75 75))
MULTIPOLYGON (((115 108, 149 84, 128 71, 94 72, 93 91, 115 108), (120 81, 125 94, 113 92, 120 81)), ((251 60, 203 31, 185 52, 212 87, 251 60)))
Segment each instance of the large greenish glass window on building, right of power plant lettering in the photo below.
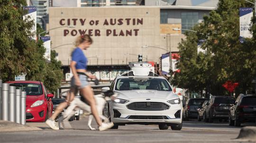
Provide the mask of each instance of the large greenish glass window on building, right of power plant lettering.
POLYGON ((198 19, 198 12, 182 12, 182 29, 192 29, 198 19))

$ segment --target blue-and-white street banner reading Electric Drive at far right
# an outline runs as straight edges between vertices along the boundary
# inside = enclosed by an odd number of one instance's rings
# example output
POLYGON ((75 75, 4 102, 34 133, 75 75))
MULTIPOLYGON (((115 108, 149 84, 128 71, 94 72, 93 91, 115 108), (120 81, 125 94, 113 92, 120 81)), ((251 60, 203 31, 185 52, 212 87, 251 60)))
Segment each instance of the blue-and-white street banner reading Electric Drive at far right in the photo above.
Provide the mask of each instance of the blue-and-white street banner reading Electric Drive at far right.
POLYGON ((251 38, 250 29, 252 27, 251 18, 253 17, 253 8, 239 8, 240 36, 239 41, 243 43, 245 38, 251 38))

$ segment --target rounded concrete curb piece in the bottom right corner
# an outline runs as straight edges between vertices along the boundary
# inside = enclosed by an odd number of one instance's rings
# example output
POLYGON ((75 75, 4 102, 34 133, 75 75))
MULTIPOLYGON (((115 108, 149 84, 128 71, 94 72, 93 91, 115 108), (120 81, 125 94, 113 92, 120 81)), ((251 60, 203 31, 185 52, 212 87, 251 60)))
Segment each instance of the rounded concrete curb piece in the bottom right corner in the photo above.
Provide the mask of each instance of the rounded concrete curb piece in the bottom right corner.
POLYGON ((243 127, 236 139, 249 139, 256 141, 256 126, 243 127))

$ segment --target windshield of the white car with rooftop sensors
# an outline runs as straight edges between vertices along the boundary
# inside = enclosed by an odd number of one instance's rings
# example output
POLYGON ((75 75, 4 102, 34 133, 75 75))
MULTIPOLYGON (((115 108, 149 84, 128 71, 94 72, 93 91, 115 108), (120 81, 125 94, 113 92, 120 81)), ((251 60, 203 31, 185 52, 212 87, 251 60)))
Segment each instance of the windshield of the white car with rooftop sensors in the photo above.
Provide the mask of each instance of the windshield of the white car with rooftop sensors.
POLYGON ((152 77, 119 78, 115 90, 159 90, 172 91, 166 79, 152 77))

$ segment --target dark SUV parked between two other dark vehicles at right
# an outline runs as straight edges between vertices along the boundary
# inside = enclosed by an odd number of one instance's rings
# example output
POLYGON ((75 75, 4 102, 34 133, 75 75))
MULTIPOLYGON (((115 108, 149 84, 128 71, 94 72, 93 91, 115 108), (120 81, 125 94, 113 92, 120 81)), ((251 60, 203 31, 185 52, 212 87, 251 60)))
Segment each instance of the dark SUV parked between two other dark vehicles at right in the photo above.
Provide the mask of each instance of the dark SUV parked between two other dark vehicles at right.
POLYGON ((212 96, 204 113, 205 122, 213 122, 213 119, 228 119, 229 108, 235 103, 231 96, 212 96))

